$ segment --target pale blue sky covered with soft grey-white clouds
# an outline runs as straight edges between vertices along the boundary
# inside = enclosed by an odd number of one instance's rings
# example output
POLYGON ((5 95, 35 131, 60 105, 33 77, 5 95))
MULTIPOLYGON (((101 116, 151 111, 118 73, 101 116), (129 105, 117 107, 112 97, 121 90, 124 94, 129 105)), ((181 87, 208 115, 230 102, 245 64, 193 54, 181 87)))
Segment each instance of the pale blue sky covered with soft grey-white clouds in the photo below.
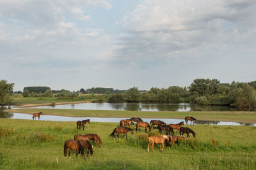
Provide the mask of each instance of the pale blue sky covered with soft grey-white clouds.
POLYGON ((0 0, 14 90, 149 90, 256 80, 255 0, 0 0))

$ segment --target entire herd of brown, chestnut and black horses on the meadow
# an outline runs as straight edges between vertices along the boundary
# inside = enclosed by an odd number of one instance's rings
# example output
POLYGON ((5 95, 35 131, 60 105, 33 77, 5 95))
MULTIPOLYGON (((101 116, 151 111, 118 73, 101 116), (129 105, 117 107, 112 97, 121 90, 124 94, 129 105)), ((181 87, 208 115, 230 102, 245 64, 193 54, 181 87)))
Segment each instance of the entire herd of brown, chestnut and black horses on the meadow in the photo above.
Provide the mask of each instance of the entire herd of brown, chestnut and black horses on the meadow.
MULTIPOLYGON (((43 115, 42 112, 40 113, 34 113, 33 114, 33 120, 35 117, 38 117, 40 119, 40 115, 43 115)), ((190 124, 195 124, 196 118, 193 117, 185 117, 185 122, 188 124, 188 121, 191 121, 190 124)), ((150 136, 148 138, 148 148, 151 147, 152 151, 154 152, 154 143, 160 144, 160 150, 163 151, 164 149, 164 142, 167 143, 167 145, 172 146, 175 142, 177 142, 179 139, 188 139, 189 134, 193 134, 193 137, 196 138, 196 133, 189 129, 188 127, 182 127, 184 125, 184 122, 180 122, 179 124, 170 124, 166 125, 163 121, 161 120, 151 120, 150 124, 148 122, 143 122, 141 118, 139 117, 132 117, 130 119, 124 119, 120 121, 120 127, 116 127, 113 132, 109 136, 113 136, 115 139, 115 136, 119 138, 119 134, 124 134, 127 138, 127 132, 131 132, 133 134, 133 130, 131 129, 131 125, 134 125, 134 122, 136 122, 136 132, 138 130, 141 132, 140 127, 145 127, 145 132, 151 132, 152 129, 158 129, 159 133, 162 133, 162 131, 166 131, 166 135, 162 136, 150 136), (130 124, 131 122, 131 124, 130 124), (155 126, 157 125, 157 127, 155 126), (179 132, 180 136, 175 136, 173 129, 177 130, 179 132), (183 136, 183 134, 187 134, 187 137, 183 136), (116 135, 117 134, 117 135, 116 135), (172 134, 172 135, 171 135, 172 134)), ((83 126, 84 130, 84 125, 86 123, 90 124, 90 119, 87 120, 82 120, 82 121, 77 121, 77 130, 81 130, 81 126, 83 126)), ((122 138, 124 138, 124 136, 122 138)), ((76 150, 76 155, 82 155, 84 158, 84 148, 87 150, 87 157, 90 152, 90 157, 93 155, 93 145, 96 141, 97 147, 102 146, 102 141, 100 140, 100 136, 95 133, 86 133, 86 134, 76 134, 74 135, 74 140, 73 139, 68 139, 64 143, 64 155, 65 158, 67 157, 67 151, 68 151, 68 157, 70 158, 70 152, 71 150, 76 150), (93 141, 92 145, 90 144, 90 140, 93 141)), ((147 148, 147 152, 149 152, 147 148)))

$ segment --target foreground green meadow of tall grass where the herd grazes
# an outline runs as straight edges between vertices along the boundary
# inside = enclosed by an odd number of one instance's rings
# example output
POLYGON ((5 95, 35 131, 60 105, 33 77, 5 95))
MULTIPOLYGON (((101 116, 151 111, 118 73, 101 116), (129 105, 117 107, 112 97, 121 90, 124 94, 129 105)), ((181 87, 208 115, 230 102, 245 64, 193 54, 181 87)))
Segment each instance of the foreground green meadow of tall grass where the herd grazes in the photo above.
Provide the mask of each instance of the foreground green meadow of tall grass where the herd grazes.
MULTIPOLYGON (((255 169, 256 127, 188 125, 198 139, 147 153, 148 134, 134 131, 128 139, 109 134, 118 123, 91 122, 77 131, 76 122, 0 119, 0 169, 255 169), (63 143, 74 134, 95 132, 102 148, 93 148, 92 159, 63 156, 63 143), (56 163, 58 157, 58 164, 56 163)), ((132 127, 134 129, 134 127, 132 127)), ((158 134, 153 130, 152 134, 158 134)))

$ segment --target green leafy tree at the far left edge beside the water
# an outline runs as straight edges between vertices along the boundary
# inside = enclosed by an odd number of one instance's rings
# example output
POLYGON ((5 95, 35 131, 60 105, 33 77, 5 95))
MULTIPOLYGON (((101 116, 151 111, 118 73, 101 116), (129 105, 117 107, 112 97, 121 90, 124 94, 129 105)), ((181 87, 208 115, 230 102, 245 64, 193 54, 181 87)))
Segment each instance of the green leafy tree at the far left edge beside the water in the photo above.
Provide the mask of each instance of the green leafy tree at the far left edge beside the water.
POLYGON ((12 102, 14 83, 7 83, 6 80, 0 81, 0 105, 6 106, 12 102))

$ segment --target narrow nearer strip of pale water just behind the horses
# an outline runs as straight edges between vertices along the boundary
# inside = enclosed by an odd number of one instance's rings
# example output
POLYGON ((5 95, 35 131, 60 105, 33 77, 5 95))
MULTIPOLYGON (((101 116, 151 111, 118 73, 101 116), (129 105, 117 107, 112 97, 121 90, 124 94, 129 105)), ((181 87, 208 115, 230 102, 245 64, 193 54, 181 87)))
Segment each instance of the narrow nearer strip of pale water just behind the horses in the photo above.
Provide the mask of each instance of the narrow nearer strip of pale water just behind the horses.
MULTIPOLYGON (((23 113, 10 113, 9 118, 16 118, 16 119, 27 119, 33 120, 32 115, 23 114, 23 113)), ((1 114, 0 114, 1 117, 1 114)), ((42 115, 41 120, 48 120, 48 121, 72 121, 77 122, 78 120, 84 120, 90 118, 91 122, 120 122, 122 119, 126 118, 100 118, 100 117, 61 117, 61 116, 54 116, 54 115, 42 115)), ((175 119, 175 118, 142 118, 144 122, 150 122, 151 120, 162 120, 166 124, 178 124, 179 122, 184 121, 184 119, 175 119)), ((190 124, 190 121, 189 121, 190 124)), ((193 123, 192 123, 193 124, 193 123)), ((256 126, 256 124, 244 124, 244 123, 236 123, 236 122, 220 122, 220 121, 205 121, 205 120, 198 120, 195 124, 208 124, 208 125, 252 125, 256 126)))

